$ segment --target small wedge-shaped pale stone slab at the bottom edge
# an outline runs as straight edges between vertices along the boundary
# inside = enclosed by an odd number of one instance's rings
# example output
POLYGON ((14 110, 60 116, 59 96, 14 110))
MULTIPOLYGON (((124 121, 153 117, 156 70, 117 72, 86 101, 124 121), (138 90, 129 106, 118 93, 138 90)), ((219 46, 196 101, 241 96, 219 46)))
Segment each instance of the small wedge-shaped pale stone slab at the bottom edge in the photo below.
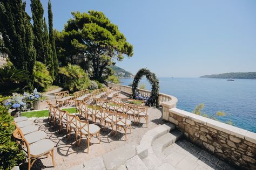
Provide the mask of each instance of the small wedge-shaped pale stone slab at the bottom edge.
POLYGON ((125 162, 127 170, 147 170, 144 162, 136 155, 125 162))

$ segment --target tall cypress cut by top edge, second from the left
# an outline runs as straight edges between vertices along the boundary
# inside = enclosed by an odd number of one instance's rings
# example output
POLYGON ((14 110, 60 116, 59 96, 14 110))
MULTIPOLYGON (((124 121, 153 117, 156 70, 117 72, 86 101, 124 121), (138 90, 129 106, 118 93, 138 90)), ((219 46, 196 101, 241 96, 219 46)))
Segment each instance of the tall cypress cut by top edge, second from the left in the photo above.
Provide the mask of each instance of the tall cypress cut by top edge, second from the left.
POLYGON ((34 46, 36 48, 36 59, 42 63, 46 63, 46 59, 44 57, 44 44, 43 44, 43 15, 44 9, 40 0, 31 0, 31 12, 33 19, 33 33, 35 35, 34 38, 34 46))

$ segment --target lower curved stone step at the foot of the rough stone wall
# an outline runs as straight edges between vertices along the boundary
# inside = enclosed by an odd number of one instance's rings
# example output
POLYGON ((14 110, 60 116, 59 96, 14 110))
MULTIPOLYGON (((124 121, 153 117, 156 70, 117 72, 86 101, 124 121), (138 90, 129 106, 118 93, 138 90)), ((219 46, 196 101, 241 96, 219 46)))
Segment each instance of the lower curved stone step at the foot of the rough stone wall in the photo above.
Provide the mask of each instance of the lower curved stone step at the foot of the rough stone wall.
POLYGON ((163 159, 165 155, 162 153, 164 149, 173 143, 175 143, 182 133, 176 129, 172 130, 170 133, 166 133, 163 136, 157 138, 153 141, 152 148, 154 153, 160 158, 163 159))

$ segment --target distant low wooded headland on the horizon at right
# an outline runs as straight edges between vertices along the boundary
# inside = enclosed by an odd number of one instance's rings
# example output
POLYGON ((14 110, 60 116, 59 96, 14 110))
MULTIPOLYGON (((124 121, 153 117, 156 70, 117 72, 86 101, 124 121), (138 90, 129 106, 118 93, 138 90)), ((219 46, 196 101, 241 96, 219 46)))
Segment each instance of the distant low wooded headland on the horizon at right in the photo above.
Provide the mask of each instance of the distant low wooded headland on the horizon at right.
POLYGON ((256 79, 256 72, 211 74, 211 75, 200 76, 200 78, 212 78, 212 79, 256 79))

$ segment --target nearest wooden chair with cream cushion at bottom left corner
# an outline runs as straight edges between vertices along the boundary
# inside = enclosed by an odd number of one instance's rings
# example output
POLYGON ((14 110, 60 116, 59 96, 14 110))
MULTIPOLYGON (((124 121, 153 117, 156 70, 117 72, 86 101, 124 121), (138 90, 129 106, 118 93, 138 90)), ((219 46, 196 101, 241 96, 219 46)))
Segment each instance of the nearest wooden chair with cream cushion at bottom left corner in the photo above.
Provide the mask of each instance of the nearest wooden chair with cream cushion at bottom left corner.
POLYGON ((51 155, 52 164, 56 167, 53 150, 54 143, 49 139, 42 139, 35 143, 29 144, 25 139, 22 131, 20 129, 16 129, 13 133, 13 136, 17 140, 17 143, 21 145, 22 149, 26 153, 26 157, 28 158, 28 169, 33 166, 35 161, 42 157, 43 155, 51 155), (31 162, 32 161, 32 162, 31 162))

